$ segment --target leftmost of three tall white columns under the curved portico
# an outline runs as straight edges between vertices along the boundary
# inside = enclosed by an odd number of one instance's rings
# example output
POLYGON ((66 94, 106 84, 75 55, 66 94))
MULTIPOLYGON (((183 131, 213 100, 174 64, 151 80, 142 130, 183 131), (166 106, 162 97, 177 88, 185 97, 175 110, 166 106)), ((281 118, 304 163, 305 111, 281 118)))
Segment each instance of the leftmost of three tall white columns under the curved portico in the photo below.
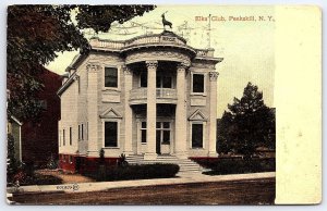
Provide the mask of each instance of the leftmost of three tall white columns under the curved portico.
POLYGON ((125 142, 124 153, 132 154, 132 108, 129 103, 130 91, 132 90, 132 77, 133 73, 128 66, 123 66, 124 72, 124 94, 125 94, 125 113, 124 113, 124 127, 125 127, 125 142))

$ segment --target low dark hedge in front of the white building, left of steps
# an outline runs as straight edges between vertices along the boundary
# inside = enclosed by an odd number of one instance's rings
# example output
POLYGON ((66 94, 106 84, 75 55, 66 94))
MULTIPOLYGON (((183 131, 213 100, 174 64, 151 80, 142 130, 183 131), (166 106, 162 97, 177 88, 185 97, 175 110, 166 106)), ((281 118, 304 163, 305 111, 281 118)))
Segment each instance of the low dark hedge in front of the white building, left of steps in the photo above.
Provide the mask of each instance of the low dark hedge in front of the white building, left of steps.
POLYGON ((173 177, 180 167, 177 164, 142 164, 128 166, 106 167, 106 178, 101 179, 96 174, 85 174, 96 181, 132 181, 146 178, 173 177))

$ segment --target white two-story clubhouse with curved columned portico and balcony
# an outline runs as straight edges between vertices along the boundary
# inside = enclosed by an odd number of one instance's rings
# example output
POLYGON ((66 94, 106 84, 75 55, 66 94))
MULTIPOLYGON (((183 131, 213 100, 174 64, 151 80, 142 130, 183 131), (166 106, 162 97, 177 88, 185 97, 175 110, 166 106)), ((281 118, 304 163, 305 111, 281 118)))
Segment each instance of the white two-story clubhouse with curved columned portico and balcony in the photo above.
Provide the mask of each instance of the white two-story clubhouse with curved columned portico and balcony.
POLYGON ((217 77, 221 58, 164 30, 125 41, 90 39, 66 69, 58 95, 64 170, 93 165, 105 150, 155 161, 217 157, 217 77))

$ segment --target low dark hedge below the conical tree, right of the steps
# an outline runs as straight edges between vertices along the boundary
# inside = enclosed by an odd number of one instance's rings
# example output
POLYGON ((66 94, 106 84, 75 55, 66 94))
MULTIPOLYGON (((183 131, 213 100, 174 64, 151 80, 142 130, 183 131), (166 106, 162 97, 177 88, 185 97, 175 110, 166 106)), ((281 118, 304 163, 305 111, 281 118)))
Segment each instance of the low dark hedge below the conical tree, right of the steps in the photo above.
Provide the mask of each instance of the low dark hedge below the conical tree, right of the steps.
POLYGON ((211 169, 206 172, 209 175, 223 175, 223 174, 243 174, 255 172, 275 172, 275 159, 217 159, 215 162, 206 163, 207 167, 211 169))

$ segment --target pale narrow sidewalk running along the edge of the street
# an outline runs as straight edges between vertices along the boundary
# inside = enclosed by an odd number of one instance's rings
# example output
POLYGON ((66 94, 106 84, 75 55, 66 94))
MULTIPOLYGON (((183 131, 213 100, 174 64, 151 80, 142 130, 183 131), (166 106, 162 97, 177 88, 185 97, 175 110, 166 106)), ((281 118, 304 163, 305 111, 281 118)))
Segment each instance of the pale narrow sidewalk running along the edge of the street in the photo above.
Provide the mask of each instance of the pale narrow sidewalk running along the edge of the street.
POLYGON ((174 178, 155 178, 140 181, 119 181, 119 182, 98 182, 98 183, 78 183, 78 184, 61 184, 61 185, 33 185, 22 186, 19 189, 7 188, 8 194, 36 194, 36 193, 86 193, 100 191, 113 188, 140 187, 140 186, 156 186, 156 185, 173 185, 187 183, 208 183, 208 182, 225 182, 225 181, 244 181, 256 178, 272 178, 275 172, 252 173, 252 174, 232 174, 232 175, 216 175, 209 176, 204 174, 178 174, 174 178))

